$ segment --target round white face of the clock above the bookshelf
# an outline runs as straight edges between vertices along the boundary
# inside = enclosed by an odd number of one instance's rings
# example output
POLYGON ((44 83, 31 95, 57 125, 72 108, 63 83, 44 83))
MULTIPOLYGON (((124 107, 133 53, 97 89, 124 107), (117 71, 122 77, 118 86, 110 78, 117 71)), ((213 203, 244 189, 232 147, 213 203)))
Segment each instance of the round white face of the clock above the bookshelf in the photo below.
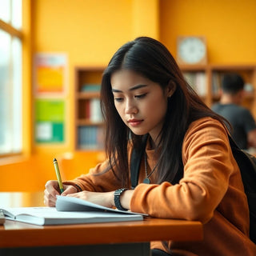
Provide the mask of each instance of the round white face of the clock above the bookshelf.
POLYGON ((178 58, 188 64, 196 64, 206 57, 206 45, 202 38, 188 37, 178 44, 178 58))

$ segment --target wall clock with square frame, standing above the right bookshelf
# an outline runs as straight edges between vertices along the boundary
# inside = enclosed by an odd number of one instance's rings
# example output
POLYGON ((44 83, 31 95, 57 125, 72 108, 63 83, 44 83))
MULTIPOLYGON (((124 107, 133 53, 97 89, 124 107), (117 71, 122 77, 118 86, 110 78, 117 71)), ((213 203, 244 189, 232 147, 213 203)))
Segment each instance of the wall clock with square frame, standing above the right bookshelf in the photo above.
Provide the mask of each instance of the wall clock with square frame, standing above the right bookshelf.
POLYGON ((201 36, 180 36, 177 43, 178 64, 206 64, 206 38, 201 36))

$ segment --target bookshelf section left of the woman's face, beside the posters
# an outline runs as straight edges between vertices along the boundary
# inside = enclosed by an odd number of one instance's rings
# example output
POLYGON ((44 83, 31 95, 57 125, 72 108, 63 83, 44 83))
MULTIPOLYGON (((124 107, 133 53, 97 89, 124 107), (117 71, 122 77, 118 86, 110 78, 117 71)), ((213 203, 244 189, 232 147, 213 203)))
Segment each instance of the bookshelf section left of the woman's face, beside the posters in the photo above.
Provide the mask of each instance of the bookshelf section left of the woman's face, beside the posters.
POLYGON ((99 100, 103 70, 104 67, 75 68, 75 150, 103 150, 104 125, 99 100))

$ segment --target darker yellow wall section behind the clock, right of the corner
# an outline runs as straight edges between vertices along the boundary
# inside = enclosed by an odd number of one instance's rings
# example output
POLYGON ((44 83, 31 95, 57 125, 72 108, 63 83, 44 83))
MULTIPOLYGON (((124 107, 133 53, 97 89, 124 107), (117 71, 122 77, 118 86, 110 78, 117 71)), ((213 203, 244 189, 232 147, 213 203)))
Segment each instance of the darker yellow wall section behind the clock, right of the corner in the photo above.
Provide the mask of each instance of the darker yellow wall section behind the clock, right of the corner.
POLYGON ((210 63, 256 64, 255 0, 162 0, 160 12, 160 38, 174 56, 178 35, 203 35, 210 63))

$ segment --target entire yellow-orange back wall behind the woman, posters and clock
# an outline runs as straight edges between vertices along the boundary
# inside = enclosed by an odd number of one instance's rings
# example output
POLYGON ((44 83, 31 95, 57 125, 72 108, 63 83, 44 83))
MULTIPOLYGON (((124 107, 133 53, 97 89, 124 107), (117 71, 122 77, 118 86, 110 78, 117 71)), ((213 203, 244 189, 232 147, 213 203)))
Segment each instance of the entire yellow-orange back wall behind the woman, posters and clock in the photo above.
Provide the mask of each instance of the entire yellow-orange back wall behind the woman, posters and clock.
MULTIPOLYGON (((119 46, 140 35, 159 39, 175 56, 177 36, 190 34, 206 36, 210 63, 256 63, 255 0, 24 2, 29 8, 24 31, 26 92, 23 114, 27 133, 23 141, 26 153, 31 151, 32 158, 0 166, 2 190, 42 190, 47 179, 55 178, 53 158, 61 159, 66 152, 69 156, 73 154, 75 66, 106 66, 119 46), (39 52, 66 53, 68 56, 66 142, 60 145, 34 143, 34 95, 30 57, 39 52), (15 174, 13 185, 9 186, 10 177, 15 174)), ((102 155, 88 152, 79 154, 76 159, 79 161, 65 160, 68 168, 62 166, 65 169, 64 178, 73 178, 73 174, 77 176, 80 172, 86 172, 102 159, 102 155)))

